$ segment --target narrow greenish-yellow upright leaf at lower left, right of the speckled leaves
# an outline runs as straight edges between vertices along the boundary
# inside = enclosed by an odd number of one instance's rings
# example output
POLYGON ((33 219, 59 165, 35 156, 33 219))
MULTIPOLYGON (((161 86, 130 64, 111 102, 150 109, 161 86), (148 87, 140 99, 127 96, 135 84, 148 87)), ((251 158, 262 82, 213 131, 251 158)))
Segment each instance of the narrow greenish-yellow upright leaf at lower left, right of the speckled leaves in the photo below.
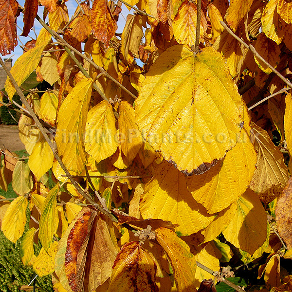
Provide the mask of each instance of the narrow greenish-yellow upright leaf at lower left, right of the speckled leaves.
POLYGON ((53 241, 54 233, 56 232, 58 227, 56 197, 59 189, 59 184, 56 184, 47 194, 39 219, 38 238, 45 250, 48 250, 50 248, 50 244, 53 241))

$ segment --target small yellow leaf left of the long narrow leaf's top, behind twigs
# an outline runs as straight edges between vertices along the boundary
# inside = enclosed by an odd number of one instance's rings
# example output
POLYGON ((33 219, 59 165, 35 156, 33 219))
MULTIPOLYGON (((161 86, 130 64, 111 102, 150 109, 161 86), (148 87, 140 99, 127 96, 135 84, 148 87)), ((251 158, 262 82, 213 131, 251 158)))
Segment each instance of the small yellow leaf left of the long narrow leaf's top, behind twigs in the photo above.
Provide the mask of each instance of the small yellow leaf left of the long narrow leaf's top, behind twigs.
POLYGON ((58 97, 52 91, 46 91, 40 99, 39 117, 52 126, 55 126, 55 119, 58 107, 58 97))

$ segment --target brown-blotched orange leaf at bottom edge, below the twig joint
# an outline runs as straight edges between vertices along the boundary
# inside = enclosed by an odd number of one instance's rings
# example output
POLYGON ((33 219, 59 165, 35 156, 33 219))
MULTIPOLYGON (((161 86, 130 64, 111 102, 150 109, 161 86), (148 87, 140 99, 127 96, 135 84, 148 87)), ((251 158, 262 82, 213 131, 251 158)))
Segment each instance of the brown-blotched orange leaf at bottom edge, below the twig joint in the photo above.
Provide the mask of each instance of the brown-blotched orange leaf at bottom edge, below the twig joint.
POLYGON ((156 264, 139 241, 125 244, 112 266, 108 292, 156 292, 156 264))

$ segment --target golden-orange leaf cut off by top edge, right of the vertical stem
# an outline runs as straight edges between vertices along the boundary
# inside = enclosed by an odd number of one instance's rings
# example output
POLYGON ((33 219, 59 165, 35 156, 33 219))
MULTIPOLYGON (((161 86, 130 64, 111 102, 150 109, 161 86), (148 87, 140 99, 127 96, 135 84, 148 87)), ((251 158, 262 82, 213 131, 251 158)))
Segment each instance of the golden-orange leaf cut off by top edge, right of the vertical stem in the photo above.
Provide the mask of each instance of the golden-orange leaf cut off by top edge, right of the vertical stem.
POLYGON ((249 11, 252 4, 253 0, 230 0, 230 6, 226 11, 225 20, 234 32, 236 32, 240 21, 249 11))

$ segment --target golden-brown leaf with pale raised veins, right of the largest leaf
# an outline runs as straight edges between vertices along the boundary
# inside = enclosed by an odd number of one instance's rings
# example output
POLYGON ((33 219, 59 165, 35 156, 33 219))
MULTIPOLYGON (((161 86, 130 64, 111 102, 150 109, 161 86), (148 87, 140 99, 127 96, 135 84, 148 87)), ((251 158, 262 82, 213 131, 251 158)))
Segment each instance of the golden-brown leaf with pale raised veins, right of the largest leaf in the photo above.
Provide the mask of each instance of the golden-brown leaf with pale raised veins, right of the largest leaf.
POLYGON ((254 123, 251 126, 257 151, 257 168, 250 188, 262 201, 269 203, 282 193, 288 182, 288 169, 283 154, 274 146, 269 134, 254 123))

